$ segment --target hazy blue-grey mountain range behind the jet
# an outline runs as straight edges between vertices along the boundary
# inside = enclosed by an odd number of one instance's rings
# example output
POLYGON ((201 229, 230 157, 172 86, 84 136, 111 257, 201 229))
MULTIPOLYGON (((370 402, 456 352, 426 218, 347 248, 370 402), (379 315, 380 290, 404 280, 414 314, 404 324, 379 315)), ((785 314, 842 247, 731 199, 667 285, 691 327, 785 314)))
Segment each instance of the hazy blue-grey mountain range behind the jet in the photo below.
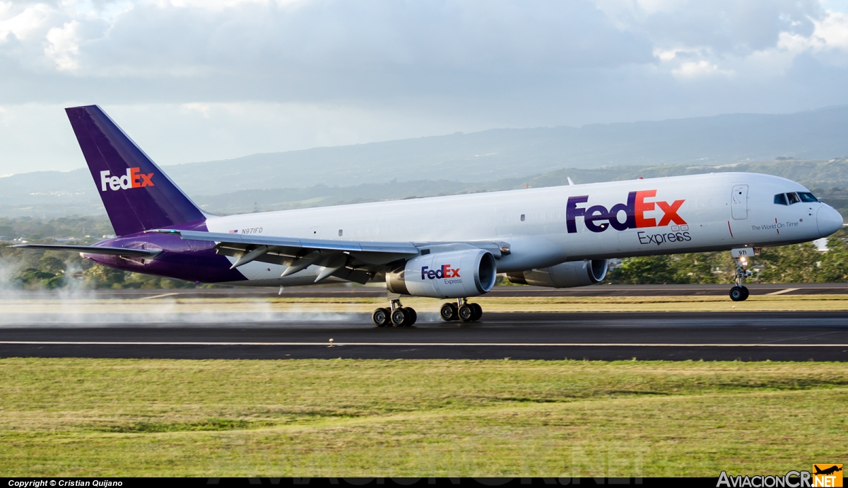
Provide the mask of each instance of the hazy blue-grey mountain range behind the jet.
MULTIPOLYGON (((204 209, 231 213, 549 186, 564 183, 563 175, 595 182, 728 168, 835 188, 848 182, 845 155, 848 106, 839 106, 788 115, 493 129, 163 169, 204 209)), ((0 216, 99 213, 103 205, 85 168, 0 178, 0 216)))

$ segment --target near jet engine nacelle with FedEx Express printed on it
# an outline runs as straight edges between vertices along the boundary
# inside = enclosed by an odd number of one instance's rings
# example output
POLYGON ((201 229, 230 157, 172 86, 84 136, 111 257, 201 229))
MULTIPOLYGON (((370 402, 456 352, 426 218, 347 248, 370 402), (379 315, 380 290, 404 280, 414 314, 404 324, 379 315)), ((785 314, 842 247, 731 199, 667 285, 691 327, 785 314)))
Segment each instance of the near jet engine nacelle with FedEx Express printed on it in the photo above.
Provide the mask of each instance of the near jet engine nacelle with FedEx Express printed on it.
POLYGON ((465 298, 487 293, 497 278, 494 255, 487 250, 456 250, 420 255, 386 273, 386 287, 399 294, 465 298))

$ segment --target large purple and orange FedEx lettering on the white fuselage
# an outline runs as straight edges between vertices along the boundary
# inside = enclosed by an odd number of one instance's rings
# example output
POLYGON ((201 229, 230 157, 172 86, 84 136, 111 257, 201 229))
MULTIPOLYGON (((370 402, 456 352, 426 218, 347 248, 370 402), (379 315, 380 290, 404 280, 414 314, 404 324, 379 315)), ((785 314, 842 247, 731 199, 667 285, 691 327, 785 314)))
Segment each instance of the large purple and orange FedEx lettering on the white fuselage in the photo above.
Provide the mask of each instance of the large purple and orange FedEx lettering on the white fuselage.
POLYGON ((639 192, 630 192, 628 194, 628 203, 616 204, 607 210, 604 205, 592 205, 589 208, 577 207, 577 205, 585 204, 589 201, 589 195, 578 197, 568 197, 566 203, 566 227, 568 233, 577 232, 577 217, 583 217, 583 225, 594 233, 604 232, 607 227, 612 227, 616 231, 623 231, 633 228, 642 227, 663 227, 674 222, 678 225, 685 225, 686 221, 678 216, 680 205, 683 205, 685 199, 674 200, 671 204, 663 201, 645 201, 656 197, 656 190, 641 190, 639 192), (660 222, 656 222, 656 218, 645 217, 644 213, 651 210, 663 211, 663 216, 660 222), (624 212, 625 218, 622 222, 619 220, 619 214, 624 212))

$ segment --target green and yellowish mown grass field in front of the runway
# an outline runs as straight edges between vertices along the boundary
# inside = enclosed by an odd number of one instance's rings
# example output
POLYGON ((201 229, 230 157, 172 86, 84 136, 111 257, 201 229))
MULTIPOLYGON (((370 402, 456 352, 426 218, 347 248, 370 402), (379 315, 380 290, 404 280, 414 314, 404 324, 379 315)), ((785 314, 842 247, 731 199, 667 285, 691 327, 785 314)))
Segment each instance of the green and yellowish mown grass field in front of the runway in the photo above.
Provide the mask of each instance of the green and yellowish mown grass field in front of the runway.
POLYGON ((845 460, 848 365, 0 359, 0 476, 716 476, 845 460))

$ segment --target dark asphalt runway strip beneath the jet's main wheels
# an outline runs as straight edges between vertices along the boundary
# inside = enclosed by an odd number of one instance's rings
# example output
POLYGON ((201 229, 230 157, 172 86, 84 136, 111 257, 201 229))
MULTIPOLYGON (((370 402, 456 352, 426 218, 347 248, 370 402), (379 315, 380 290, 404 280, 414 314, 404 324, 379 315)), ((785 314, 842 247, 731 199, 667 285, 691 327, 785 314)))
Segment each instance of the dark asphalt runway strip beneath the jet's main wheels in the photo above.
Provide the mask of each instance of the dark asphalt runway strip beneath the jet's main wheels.
POLYGON ((490 313, 480 323, 2 328, 0 356, 848 361, 848 312, 490 313), (331 342, 332 339, 332 342, 331 342))

